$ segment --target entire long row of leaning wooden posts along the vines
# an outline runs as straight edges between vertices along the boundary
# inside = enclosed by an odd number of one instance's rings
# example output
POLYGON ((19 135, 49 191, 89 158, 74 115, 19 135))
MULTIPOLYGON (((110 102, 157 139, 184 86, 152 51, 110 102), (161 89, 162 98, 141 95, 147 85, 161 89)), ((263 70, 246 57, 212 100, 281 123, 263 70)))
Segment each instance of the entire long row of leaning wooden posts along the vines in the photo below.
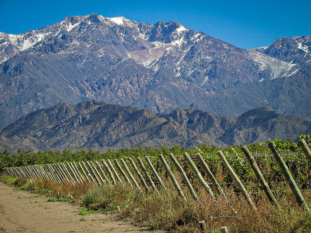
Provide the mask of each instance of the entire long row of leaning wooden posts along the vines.
MULTIPOLYGON (((306 158, 309 160, 311 163, 311 151, 304 141, 304 139, 299 140, 299 145, 304 151, 304 154, 306 158)), ((279 152, 276 149, 276 145, 274 142, 270 142, 268 144, 269 148, 272 151, 272 154, 276 158, 276 161, 278 165, 281 168, 282 173, 285 176, 286 181, 288 182, 288 185, 290 186, 290 189, 292 190, 293 194, 295 195, 295 198, 299 205, 301 205, 306 211, 310 211, 308 204, 304 200, 304 197, 302 196, 293 176, 291 175, 288 167, 286 166, 282 156, 279 154, 279 152)), ((248 158, 248 161, 251 164, 251 167, 258 179, 258 182, 260 183, 262 189, 264 190, 265 194, 267 195, 267 198, 272 204, 277 204, 277 200, 275 196, 273 195, 272 191, 269 188, 269 185, 267 184, 265 178, 263 177, 253 155, 249 152, 248 148, 246 146, 243 146, 242 148, 243 153, 245 156, 248 158)), ((244 199, 246 202, 252 206, 254 209, 256 209, 250 195, 248 194, 247 190, 245 189, 243 183, 239 179, 239 177, 236 175, 230 164, 228 163, 227 159, 225 158, 225 155, 221 152, 217 152, 218 156, 220 157, 220 160, 222 161, 224 167, 227 169, 228 173, 230 174, 232 180, 234 183, 237 185, 239 188, 240 192, 242 193, 244 199)), ((200 185, 204 187, 204 189, 207 191, 208 194, 211 195, 212 198, 214 198, 214 193, 212 192, 210 186, 207 184, 206 180, 203 178, 201 175, 200 171, 198 170, 196 164, 193 162, 193 160, 190 158, 188 153, 183 153, 183 157, 185 160, 188 162, 190 167, 192 168, 195 176, 197 177, 200 185)), ((181 174, 181 177, 183 179, 184 184, 188 188, 190 194, 192 195, 193 199, 198 201, 199 198, 197 197, 197 194, 195 193, 193 186, 191 185, 185 171, 183 170, 182 166, 179 164, 177 159, 174 157, 174 155, 171 153, 169 154, 169 158, 171 162, 174 164, 176 167, 177 171, 181 174)), ((218 195, 223 196, 226 199, 225 193, 220 187, 218 181, 215 179, 214 175, 210 171, 209 167, 207 166, 206 162, 202 158, 201 154, 198 153, 196 154, 196 158, 199 161, 201 167, 204 169, 206 172, 208 179, 211 180, 211 183, 215 187, 215 190, 218 195)), ((166 174, 169 176, 169 178, 172 180, 173 185, 175 189, 177 190, 179 196, 181 198, 185 198, 185 195, 183 193, 183 190, 181 189, 179 183, 177 182, 171 168, 169 167, 167 161, 165 160, 164 156, 162 154, 159 155, 159 159, 165 168, 166 174)), ((148 184, 151 186, 151 188, 154 191, 157 191, 158 188, 163 188, 166 189, 166 186, 164 182, 161 180, 160 175, 156 171, 156 169, 153 167, 151 160, 147 157, 145 157, 145 162, 148 165, 152 176, 154 177, 155 182, 151 178, 151 174, 147 171, 146 167, 144 166, 144 163, 141 158, 137 158, 137 162, 139 167, 141 168, 141 171, 143 171, 143 174, 145 175, 145 178, 143 175, 140 173, 139 169, 137 168, 135 162, 133 161, 132 158, 128 158, 129 163, 131 164, 133 170, 135 171, 137 177, 141 181, 142 187, 146 190, 146 192, 150 191, 150 187, 148 184), (158 185, 156 186, 157 183, 158 185)), ((118 162, 117 159, 114 159, 114 164, 121 176, 123 176, 125 182, 130 183, 131 185, 135 185, 138 190, 142 192, 141 186, 138 184, 137 180, 131 173, 129 167, 127 166, 126 162, 123 159, 120 159, 120 162, 123 166, 121 167, 120 163, 118 162)), ((83 184, 85 182, 97 182, 98 185, 102 185, 104 183, 110 183, 115 185, 117 182, 122 183, 123 180, 120 178, 118 172, 116 171, 115 167, 113 166, 112 162, 107 159, 107 161, 102 160, 101 164, 98 161, 92 162, 92 161, 87 161, 87 162, 67 162, 66 163, 67 167, 63 163, 58 163, 58 164, 46 164, 45 166, 34 166, 34 165, 29 165, 29 166, 23 166, 23 167, 9 167, 9 168, 2 168, 4 175, 6 176, 13 176, 13 177, 31 177, 35 179, 50 179, 54 182, 57 183, 63 183, 65 184, 66 182, 71 182, 72 185, 76 185, 77 183, 83 184), (106 176, 103 168, 107 172, 108 177, 106 176)))

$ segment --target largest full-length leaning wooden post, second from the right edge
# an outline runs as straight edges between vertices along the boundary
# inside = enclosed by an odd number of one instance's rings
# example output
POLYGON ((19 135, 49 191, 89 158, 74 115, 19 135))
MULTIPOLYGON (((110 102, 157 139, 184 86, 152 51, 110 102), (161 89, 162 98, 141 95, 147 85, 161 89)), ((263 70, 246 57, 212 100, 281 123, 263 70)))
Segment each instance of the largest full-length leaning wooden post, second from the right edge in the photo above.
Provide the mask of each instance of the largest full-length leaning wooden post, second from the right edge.
POLYGON ((279 166, 281 167, 281 170, 283 172, 283 175, 285 176, 286 181, 288 182, 290 189, 293 191, 293 194, 297 200, 297 202, 299 203, 299 205, 301 205, 305 210, 307 210, 308 212, 310 212, 310 209, 308 207, 308 204, 306 203, 306 201, 304 200, 304 197, 302 196, 293 176, 290 174, 290 171, 288 170, 288 167, 286 166, 283 158, 281 157, 281 155, 279 154, 279 152, 276 150, 276 145, 274 144, 274 142, 270 142, 268 143, 268 146, 270 148, 270 150, 272 151, 276 162, 279 164, 279 166))

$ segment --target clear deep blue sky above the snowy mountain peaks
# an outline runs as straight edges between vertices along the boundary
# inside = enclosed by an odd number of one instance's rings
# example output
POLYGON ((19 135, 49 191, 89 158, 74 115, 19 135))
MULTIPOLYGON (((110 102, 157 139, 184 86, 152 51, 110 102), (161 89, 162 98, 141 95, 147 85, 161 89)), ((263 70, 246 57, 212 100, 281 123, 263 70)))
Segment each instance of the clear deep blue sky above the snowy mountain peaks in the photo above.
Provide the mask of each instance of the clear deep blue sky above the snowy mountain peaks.
POLYGON ((178 21, 241 48, 270 45, 276 38, 311 35, 311 1, 49 1, 0 0, 0 31, 18 34, 62 21, 100 14, 155 23, 178 21))

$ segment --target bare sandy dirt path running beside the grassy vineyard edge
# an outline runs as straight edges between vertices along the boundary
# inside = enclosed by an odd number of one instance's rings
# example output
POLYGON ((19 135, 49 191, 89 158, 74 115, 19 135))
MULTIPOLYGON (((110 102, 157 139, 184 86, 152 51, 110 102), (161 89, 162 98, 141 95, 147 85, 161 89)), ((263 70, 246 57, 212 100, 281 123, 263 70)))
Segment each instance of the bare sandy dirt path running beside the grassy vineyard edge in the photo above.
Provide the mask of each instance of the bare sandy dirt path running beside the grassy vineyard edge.
POLYGON ((0 232, 162 232, 115 220, 112 214, 78 216, 80 207, 46 200, 0 183, 0 232))

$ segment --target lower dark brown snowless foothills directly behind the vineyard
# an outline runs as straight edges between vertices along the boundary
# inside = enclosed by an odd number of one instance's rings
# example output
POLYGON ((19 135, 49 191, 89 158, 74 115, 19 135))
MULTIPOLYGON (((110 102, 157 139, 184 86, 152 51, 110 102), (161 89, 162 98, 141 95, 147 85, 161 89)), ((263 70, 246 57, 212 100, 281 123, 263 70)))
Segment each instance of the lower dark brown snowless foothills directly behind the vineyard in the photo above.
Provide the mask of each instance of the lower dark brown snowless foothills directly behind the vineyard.
POLYGON ((268 138, 295 137, 311 130, 311 122, 259 107, 237 118, 178 108, 154 114, 132 106, 98 101, 70 105, 59 102, 21 117, 0 131, 0 149, 93 146, 101 151, 132 145, 225 145, 268 138))

